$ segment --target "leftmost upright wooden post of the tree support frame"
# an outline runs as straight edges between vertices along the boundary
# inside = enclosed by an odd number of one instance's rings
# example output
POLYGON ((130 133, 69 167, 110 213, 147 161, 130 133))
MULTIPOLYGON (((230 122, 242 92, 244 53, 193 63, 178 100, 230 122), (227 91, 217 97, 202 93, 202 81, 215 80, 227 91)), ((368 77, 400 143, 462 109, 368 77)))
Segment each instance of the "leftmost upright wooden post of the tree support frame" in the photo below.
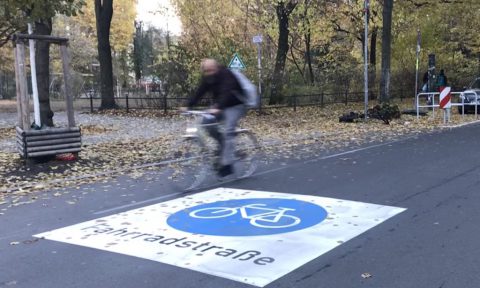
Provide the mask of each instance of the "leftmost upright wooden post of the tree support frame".
POLYGON ((28 99, 28 84, 27 84, 27 73, 26 73, 26 63, 25 63, 25 44, 17 43, 17 59, 18 59, 18 83, 20 86, 20 101, 21 103, 21 113, 22 113, 22 129, 27 131, 30 129, 30 104, 28 99))

